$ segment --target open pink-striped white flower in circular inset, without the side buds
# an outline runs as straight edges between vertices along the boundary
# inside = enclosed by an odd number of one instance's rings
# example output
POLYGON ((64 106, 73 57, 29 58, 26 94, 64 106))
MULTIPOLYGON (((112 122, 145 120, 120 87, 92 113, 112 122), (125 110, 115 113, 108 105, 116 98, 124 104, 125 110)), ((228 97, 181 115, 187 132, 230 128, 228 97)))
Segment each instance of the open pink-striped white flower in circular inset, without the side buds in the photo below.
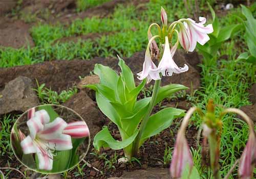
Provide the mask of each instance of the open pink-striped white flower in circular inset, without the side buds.
POLYGON ((57 117, 50 121, 50 116, 45 110, 34 113, 34 116, 27 121, 30 134, 20 142, 24 154, 36 153, 39 165, 42 170, 52 170, 53 152, 55 150, 72 149, 71 136, 62 134, 67 123, 57 117))

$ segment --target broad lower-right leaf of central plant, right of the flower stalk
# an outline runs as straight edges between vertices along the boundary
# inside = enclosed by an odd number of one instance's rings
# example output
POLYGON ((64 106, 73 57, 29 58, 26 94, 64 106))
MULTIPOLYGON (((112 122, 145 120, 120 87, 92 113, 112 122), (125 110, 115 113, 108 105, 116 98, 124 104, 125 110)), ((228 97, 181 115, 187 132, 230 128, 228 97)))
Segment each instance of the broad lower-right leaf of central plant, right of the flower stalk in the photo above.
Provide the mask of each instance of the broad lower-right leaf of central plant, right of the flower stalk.
POLYGON ((176 108, 165 108, 150 116, 142 133, 140 144, 151 136, 159 134, 172 124, 173 119, 184 116, 185 111, 176 108))

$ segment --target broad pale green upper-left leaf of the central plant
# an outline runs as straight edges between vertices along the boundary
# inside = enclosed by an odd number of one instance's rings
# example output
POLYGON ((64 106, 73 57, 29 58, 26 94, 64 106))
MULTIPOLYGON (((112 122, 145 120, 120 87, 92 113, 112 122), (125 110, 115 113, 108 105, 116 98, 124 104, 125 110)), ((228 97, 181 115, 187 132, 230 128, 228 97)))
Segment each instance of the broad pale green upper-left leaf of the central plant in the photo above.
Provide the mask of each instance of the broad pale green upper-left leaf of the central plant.
POLYGON ((94 73, 99 76, 100 84, 116 89, 118 75, 113 69, 101 64, 95 64, 94 73))

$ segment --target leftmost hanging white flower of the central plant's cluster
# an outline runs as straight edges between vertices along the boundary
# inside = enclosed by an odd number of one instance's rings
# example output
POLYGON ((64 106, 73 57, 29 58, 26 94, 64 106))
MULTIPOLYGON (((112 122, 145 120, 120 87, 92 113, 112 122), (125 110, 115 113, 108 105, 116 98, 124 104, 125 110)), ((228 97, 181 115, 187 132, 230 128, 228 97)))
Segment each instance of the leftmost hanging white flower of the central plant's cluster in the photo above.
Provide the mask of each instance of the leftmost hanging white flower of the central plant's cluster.
POLYGON ((137 73, 139 80, 144 80, 146 78, 147 83, 151 80, 160 80, 160 75, 156 72, 157 66, 151 59, 150 48, 147 47, 145 53, 145 60, 143 63, 143 69, 141 72, 137 73))

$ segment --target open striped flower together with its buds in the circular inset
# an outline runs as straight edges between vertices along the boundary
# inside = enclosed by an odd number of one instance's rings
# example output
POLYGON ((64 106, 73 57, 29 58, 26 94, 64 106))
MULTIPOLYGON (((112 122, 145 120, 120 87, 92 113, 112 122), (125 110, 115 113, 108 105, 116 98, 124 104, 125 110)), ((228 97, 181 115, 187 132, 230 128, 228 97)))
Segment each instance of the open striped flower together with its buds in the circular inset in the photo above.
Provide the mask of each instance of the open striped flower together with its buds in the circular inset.
POLYGON ((89 129, 84 121, 67 123, 57 117, 50 122, 50 116, 46 110, 28 112, 27 126, 30 134, 25 135, 19 130, 20 146, 24 154, 36 153, 42 170, 52 170, 55 150, 72 149, 73 138, 89 136, 89 129))

